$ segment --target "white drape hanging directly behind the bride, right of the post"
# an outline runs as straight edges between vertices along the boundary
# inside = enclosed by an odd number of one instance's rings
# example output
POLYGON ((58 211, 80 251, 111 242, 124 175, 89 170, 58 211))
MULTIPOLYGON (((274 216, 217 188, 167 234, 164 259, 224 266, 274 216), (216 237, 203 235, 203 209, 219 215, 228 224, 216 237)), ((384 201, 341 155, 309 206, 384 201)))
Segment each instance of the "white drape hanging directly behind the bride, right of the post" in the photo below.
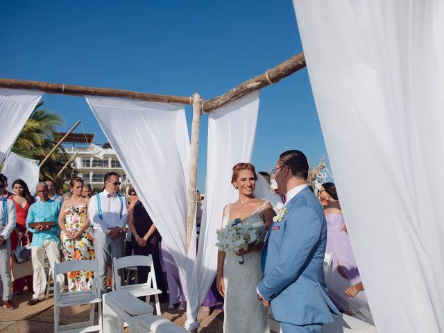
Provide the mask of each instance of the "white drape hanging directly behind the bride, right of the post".
MULTIPOLYGON (((216 275, 216 230, 222 211, 237 198, 231 185, 232 167, 250 162, 255 142, 259 91, 212 111, 208 120, 207 181, 198 247, 200 305, 216 275)), ((194 309, 197 314, 198 308, 194 309)))

